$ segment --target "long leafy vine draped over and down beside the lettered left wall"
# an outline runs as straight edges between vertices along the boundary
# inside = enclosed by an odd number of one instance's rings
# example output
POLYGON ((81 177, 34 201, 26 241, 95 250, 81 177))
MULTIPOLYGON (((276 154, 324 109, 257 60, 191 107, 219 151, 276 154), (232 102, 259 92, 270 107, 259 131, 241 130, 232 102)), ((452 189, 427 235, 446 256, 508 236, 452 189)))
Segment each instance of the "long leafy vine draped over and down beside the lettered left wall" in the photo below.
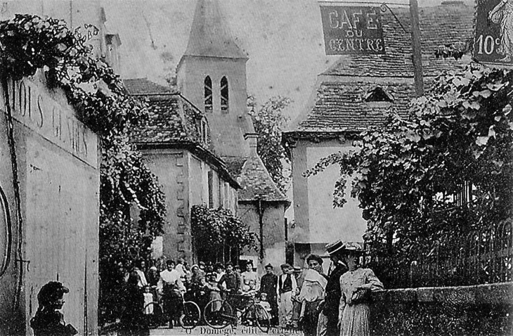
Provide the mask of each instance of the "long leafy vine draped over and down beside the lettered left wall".
POLYGON ((63 89, 79 119, 99 136, 100 287, 107 288, 114 281, 107 270, 119 260, 148 257, 165 221, 156 176, 129 143, 129 130, 145 121, 145 105, 124 91, 112 68, 93 58, 79 30, 71 32, 63 21, 15 15, 0 22, 0 49, 4 83, 42 68, 48 85, 63 89), (132 206, 140 210, 136 223, 132 206))

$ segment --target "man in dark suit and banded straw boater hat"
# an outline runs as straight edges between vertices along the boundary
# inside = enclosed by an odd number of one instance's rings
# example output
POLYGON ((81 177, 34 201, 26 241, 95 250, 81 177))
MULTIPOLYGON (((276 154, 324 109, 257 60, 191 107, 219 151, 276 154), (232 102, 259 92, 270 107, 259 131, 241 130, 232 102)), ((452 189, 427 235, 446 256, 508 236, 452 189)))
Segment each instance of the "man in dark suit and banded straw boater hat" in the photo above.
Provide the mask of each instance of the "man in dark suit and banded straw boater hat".
MULTIPOLYGON (((342 292, 340 290, 340 277, 346 273, 347 266, 342 261, 345 245, 342 240, 326 245, 326 252, 330 254, 333 268, 327 279, 325 301, 319 321, 326 321, 324 325, 319 325, 319 336, 339 336, 339 302, 342 292), (324 319, 325 317, 325 319, 324 319)), ((323 324, 323 323, 320 323, 323 324)))

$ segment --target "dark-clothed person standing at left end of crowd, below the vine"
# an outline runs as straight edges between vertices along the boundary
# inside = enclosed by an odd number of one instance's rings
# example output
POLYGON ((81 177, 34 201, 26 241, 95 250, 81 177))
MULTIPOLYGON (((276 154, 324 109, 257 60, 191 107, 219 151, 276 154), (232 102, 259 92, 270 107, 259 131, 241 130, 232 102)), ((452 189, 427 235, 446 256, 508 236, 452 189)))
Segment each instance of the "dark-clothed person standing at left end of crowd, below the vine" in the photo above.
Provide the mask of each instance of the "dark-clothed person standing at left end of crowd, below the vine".
POLYGON ((150 329, 143 316, 144 295, 138 287, 139 276, 131 272, 124 287, 124 310, 121 316, 119 335, 144 336, 150 335, 150 329))

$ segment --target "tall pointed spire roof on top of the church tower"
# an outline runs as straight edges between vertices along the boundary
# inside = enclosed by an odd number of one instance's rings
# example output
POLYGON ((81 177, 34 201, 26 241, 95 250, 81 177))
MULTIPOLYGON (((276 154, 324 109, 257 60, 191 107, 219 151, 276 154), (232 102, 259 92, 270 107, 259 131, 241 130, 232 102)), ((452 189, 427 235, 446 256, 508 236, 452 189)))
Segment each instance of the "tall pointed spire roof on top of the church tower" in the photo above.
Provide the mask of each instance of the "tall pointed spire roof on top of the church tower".
POLYGON ((197 1, 189 42, 183 56, 248 58, 235 44, 221 15, 218 0, 197 1))

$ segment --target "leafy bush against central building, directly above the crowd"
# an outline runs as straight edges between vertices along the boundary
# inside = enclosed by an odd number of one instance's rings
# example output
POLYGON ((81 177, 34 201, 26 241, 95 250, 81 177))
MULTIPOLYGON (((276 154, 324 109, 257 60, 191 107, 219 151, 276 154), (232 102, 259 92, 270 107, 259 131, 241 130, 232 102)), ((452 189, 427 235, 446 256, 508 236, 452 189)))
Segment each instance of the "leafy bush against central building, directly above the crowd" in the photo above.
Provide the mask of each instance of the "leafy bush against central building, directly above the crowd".
POLYGON ((206 205, 193 205, 190 209, 190 226, 195 237, 198 255, 223 250, 224 246, 256 248, 257 234, 228 209, 209 209, 206 205))

